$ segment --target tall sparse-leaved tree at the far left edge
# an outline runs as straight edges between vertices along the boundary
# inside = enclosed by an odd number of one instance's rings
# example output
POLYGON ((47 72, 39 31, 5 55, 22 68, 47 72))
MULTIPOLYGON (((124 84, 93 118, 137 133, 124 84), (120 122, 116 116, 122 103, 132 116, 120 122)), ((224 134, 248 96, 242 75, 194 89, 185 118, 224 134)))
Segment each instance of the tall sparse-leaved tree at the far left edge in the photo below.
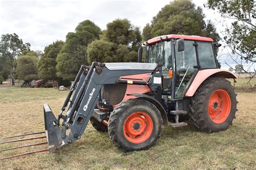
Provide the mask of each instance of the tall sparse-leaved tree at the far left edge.
POLYGON ((16 33, 3 34, 0 44, 0 74, 3 79, 9 76, 12 79, 12 85, 15 85, 16 59, 23 51, 30 49, 30 44, 23 43, 16 33))

